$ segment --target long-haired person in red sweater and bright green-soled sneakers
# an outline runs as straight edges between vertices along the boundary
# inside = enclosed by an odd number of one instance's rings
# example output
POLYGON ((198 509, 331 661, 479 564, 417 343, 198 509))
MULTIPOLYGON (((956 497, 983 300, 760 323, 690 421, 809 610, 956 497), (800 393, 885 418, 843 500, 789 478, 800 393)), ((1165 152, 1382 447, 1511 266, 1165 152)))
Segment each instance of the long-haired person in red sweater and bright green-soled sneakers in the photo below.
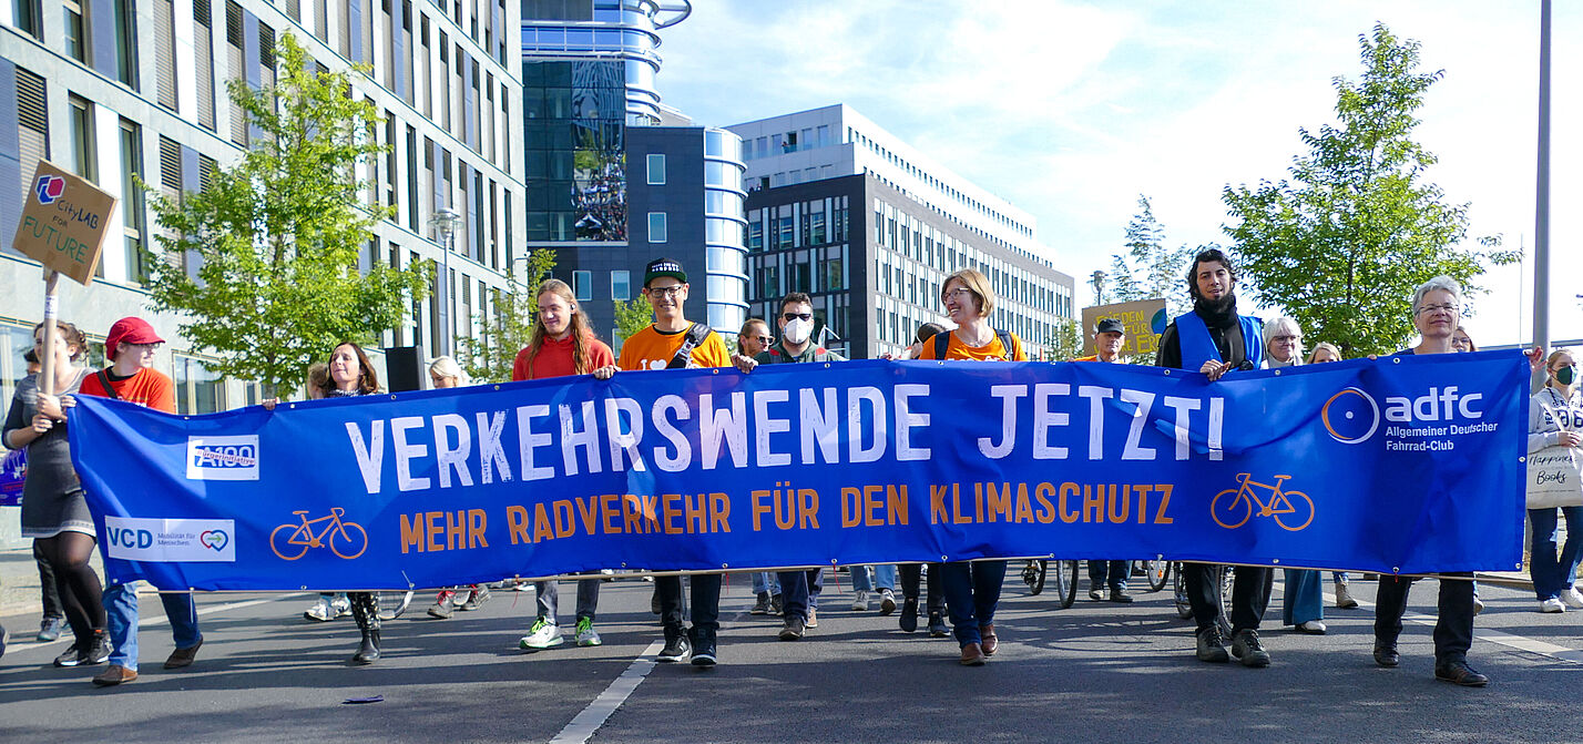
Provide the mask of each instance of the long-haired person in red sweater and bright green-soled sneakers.
MULTIPOLYGON (((511 364, 511 381, 543 380, 546 377, 584 375, 613 367, 616 355, 609 347, 594 337, 589 318, 578 309, 571 288, 559 279, 546 279, 538 285, 538 317, 533 320, 533 334, 529 336, 527 348, 516 355, 511 364)), ((602 372, 609 378, 609 372, 602 372)), ((578 581, 578 646, 598 646, 603 643, 594 630, 594 614, 598 608, 600 579, 578 581)), ((538 617, 529 627, 527 635, 518 641, 524 651, 541 651, 560 646, 565 638, 560 635, 557 621, 560 594, 554 581, 538 581, 533 584, 538 605, 538 617)))

